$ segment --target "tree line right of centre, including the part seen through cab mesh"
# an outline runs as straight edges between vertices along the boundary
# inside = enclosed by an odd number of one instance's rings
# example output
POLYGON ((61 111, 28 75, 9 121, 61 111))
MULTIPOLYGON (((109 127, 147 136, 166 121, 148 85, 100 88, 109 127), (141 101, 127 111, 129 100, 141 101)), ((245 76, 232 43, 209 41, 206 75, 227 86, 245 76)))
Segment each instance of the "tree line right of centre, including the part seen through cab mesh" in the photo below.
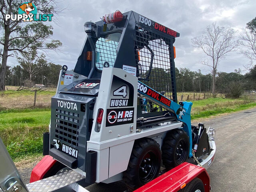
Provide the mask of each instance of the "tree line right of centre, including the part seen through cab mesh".
MULTIPOLYGON (((211 92, 212 74, 202 74, 201 70, 191 71, 188 68, 176 68, 176 90, 177 92, 211 92)), ((171 91, 170 69, 153 68, 150 73, 149 81, 145 82, 157 91, 171 91), (159 74, 161 78, 159 78, 159 74), (150 80, 153 84, 151 84, 150 80), (169 83, 168 83, 169 82, 169 83)), ((232 90, 242 92, 243 90, 256 89, 256 65, 246 74, 241 74, 241 70, 231 73, 216 72, 215 90, 218 93, 229 93, 232 90)))

